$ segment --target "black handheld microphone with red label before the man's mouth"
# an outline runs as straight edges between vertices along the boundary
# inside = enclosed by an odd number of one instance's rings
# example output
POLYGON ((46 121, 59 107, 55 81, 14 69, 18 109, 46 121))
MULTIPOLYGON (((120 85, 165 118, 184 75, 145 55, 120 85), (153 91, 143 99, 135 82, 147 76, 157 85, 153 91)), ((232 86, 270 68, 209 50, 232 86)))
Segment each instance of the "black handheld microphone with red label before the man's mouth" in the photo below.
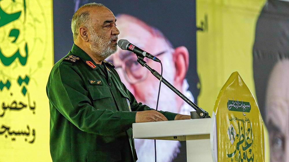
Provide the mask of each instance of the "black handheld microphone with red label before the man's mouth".
POLYGON ((161 62, 160 59, 157 57, 153 56, 152 54, 145 52, 144 50, 138 48, 137 46, 131 44, 128 40, 126 39, 120 39, 117 43, 118 47, 123 49, 123 50, 129 50, 131 52, 134 52, 137 55, 142 55, 144 57, 147 57, 149 59, 152 59, 155 62, 161 62))

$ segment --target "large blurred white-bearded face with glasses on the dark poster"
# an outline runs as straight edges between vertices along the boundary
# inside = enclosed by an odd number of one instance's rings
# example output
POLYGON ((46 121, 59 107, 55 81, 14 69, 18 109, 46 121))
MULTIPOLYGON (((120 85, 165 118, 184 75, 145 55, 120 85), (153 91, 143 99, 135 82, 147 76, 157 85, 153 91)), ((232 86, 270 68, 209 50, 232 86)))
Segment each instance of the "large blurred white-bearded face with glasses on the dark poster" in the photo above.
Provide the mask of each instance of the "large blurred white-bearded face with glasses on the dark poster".
MULTIPOLYGON (((127 39, 142 50, 158 57, 163 64, 163 77, 194 102, 194 97, 188 91, 189 85, 185 78, 189 64, 187 48, 184 46, 173 48, 160 30, 149 26, 136 17, 120 14, 116 16, 116 19, 118 29, 122 31, 118 35, 119 40, 127 39)), ((133 93, 138 102, 155 108, 158 98, 159 80, 137 62, 135 54, 118 48, 117 52, 110 56, 107 61, 115 65, 122 82, 133 93)), ((145 61, 153 69, 161 71, 159 63, 147 58, 145 58, 145 61)), ((186 115, 190 115, 190 111, 193 111, 187 103, 165 85, 160 90, 158 110, 186 115)), ((153 140, 135 139, 135 146, 138 161, 154 160, 153 140)), ((172 161, 180 152, 179 147, 179 141, 158 140, 156 142, 158 161, 172 161)))

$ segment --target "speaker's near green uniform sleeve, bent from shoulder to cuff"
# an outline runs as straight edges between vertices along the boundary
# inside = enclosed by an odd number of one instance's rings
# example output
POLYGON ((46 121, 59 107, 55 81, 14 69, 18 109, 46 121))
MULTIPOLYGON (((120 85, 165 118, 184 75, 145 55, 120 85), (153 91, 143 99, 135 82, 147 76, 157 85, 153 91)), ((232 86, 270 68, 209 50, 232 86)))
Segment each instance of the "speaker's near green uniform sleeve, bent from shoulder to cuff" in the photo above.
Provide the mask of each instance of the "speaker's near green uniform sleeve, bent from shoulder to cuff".
POLYGON ((116 135, 135 123, 136 112, 97 110, 92 106, 81 77, 72 65, 55 69, 47 87, 49 101, 82 131, 98 135, 116 135))

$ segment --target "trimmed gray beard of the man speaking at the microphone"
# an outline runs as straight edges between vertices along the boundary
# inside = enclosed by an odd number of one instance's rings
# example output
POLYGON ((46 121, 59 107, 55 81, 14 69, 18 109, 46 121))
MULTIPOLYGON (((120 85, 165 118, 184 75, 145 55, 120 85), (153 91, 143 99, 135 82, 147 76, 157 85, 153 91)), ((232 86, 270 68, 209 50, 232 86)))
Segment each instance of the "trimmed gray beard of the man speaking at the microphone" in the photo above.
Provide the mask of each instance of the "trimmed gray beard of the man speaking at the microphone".
POLYGON ((92 50, 92 52, 97 53, 101 58, 104 59, 108 58, 109 56, 111 56, 116 52, 117 44, 115 44, 113 48, 110 47, 110 44, 112 39, 117 38, 117 35, 105 42, 93 30, 91 31, 92 31, 90 36, 91 40, 89 47, 90 50, 92 50))

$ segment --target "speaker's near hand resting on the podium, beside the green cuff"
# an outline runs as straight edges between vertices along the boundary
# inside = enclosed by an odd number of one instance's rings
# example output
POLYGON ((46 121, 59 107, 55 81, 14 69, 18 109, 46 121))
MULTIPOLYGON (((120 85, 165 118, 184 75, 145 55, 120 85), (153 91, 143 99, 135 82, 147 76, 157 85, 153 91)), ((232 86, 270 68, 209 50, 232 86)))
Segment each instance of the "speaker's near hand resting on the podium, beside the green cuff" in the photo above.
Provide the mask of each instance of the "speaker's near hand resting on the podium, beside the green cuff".
POLYGON ((168 119, 156 110, 139 111, 136 113, 136 123, 168 121, 168 119))

